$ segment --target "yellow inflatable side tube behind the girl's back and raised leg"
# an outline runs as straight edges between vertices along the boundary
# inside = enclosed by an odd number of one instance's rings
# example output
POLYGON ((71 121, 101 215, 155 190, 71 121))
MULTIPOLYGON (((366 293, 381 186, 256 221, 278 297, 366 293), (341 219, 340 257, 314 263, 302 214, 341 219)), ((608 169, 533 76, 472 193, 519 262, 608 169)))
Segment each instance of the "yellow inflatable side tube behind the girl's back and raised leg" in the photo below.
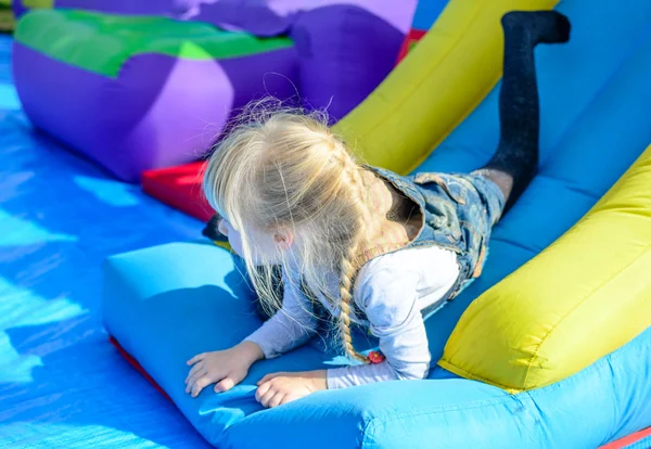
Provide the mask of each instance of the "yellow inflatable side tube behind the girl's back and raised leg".
POLYGON ((406 175, 418 167, 501 77, 500 17, 552 9, 557 0, 451 0, 388 77, 334 126, 368 164, 406 175))

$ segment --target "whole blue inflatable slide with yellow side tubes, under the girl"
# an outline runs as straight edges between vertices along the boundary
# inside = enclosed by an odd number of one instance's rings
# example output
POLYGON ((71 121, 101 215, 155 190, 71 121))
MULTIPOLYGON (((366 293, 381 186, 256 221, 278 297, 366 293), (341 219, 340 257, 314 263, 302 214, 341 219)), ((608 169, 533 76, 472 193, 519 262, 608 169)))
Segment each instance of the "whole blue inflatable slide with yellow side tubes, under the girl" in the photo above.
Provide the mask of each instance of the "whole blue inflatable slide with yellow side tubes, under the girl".
POLYGON ((427 380, 318 392, 264 409, 254 395, 266 373, 346 363, 311 342, 257 362, 227 393, 191 398, 186 360, 260 325, 241 261, 208 242, 107 259, 107 331, 206 440, 651 447, 651 2, 451 0, 335 129, 369 164, 400 174, 481 166, 498 140, 499 20, 551 8, 570 16, 573 35, 536 54, 540 170, 495 229, 482 277, 426 321, 436 361, 427 380))

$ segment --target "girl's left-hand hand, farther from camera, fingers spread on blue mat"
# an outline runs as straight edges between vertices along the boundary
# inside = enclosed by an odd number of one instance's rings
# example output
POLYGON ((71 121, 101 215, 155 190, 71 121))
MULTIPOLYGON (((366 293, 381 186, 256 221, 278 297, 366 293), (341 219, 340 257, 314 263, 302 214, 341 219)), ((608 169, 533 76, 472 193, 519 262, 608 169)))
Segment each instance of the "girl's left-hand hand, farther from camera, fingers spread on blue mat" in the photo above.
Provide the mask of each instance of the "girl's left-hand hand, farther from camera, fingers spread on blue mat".
POLYGON ((251 342, 227 350, 196 355, 188 360, 188 364, 193 367, 186 377, 186 393, 195 398, 210 384, 216 384, 215 393, 228 392, 242 382, 251 365, 261 358, 263 351, 251 342))

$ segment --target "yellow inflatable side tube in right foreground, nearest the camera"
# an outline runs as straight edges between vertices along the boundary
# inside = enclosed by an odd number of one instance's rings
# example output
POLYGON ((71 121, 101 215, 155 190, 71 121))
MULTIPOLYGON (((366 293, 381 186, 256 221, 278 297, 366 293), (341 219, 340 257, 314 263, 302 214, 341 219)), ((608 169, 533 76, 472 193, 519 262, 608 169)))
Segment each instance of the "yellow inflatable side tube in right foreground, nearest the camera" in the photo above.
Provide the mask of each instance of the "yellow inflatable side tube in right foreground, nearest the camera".
POLYGON ((519 393, 561 381, 651 326, 649 192, 651 146, 565 235, 471 304, 439 364, 519 393))

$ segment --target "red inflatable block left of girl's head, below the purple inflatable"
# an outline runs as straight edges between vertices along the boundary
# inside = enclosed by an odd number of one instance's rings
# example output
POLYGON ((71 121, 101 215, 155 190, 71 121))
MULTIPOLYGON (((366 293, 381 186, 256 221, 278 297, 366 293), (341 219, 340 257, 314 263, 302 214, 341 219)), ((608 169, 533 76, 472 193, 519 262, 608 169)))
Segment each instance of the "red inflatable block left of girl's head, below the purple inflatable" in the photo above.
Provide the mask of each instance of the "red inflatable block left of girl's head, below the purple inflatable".
POLYGON ((144 171, 142 190, 176 209, 208 221, 214 211, 203 196, 204 165, 202 161, 144 171))

